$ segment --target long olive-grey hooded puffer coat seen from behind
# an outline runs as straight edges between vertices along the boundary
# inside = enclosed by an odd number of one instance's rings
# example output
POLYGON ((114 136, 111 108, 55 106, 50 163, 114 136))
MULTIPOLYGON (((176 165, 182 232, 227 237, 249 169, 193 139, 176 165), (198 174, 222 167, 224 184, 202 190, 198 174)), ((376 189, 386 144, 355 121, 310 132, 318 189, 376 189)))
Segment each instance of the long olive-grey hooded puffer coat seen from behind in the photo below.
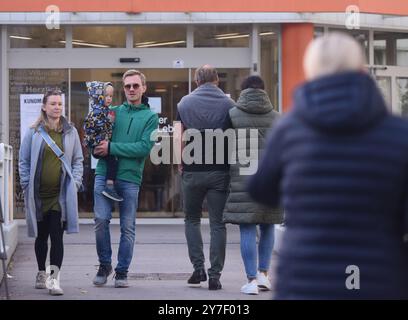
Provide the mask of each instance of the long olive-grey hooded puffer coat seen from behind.
MULTIPOLYGON (((229 114, 237 137, 238 153, 245 151, 248 156, 254 155, 255 159, 251 157, 251 163, 253 166, 253 161, 256 161, 257 165, 260 154, 264 150, 267 132, 279 117, 279 113, 273 110, 269 97, 264 90, 249 88, 241 92, 237 106, 231 109, 229 114), (254 139, 250 140, 248 138, 248 133, 246 134, 247 137, 245 135, 240 137, 239 129, 247 129, 247 131, 248 129, 257 129, 258 145, 254 143, 254 139), (244 146, 245 149, 243 149, 244 146)), ((240 174, 240 169, 245 168, 248 168, 248 165, 240 164, 239 160, 236 164, 231 164, 231 186, 223 215, 224 222, 236 224, 281 223, 281 210, 267 208, 254 202, 246 192, 246 183, 249 176, 240 174)))

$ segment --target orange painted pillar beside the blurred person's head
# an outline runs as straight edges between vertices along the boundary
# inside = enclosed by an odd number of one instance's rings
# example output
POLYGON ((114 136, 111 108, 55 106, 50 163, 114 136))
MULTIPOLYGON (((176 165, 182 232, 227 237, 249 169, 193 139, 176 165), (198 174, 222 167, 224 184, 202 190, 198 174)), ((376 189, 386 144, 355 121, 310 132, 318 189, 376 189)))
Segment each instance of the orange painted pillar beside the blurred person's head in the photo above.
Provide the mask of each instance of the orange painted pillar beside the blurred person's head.
POLYGON ((282 107, 289 111, 292 106, 293 89, 304 81, 303 55, 313 39, 311 23, 288 23, 282 25, 282 107))

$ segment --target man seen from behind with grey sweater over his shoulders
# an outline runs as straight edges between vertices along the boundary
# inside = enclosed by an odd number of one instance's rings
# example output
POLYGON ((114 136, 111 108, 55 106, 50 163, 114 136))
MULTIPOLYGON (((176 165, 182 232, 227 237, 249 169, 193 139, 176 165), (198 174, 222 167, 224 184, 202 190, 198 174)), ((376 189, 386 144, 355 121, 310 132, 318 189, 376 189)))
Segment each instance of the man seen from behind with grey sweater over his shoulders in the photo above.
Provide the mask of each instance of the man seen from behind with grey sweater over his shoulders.
POLYGON ((219 279, 224 267, 226 247, 226 229, 222 222, 222 213, 228 196, 230 175, 225 149, 217 150, 214 141, 210 147, 212 150, 206 149, 204 140, 206 129, 219 129, 222 132, 230 127, 228 111, 234 106, 234 101, 218 88, 218 74, 215 68, 208 65, 198 68, 195 81, 198 88, 181 99, 177 116, 187 133, 188 131, 199 132, 203 138, 202 148, 199 150, 196 148, 193 151, 194 161, 185 161, 186 157, 183 156, 182 191, 185 233, 190 261, 194 267, 194 272, 187 282, 190 286, 200 286, 200 282, 207 280, 200 228, 202 205, 204 198, 207 197, 211 228, 211 267, 208 269, 208 289, 218 290, 222 287, 219 279), (211 160, 215 160, 217 151, 224 153, 224 161, 208 163, 206 153, 213 152, 211 160))

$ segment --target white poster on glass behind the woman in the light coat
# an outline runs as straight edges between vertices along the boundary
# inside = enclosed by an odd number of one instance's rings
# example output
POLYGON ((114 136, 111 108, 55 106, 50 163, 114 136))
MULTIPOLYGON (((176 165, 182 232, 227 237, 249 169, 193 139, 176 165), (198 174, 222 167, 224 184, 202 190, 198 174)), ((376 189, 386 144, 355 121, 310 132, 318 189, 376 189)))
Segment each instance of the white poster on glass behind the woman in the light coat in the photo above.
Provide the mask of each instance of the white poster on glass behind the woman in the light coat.
MULTIPOLYGON (((20 137, 24 138, 27 130, 38 119, 41 111, 43 94, 20 95, 20 137)), ((62 114, 65 116, 65 95, 62 94, 62 114)))

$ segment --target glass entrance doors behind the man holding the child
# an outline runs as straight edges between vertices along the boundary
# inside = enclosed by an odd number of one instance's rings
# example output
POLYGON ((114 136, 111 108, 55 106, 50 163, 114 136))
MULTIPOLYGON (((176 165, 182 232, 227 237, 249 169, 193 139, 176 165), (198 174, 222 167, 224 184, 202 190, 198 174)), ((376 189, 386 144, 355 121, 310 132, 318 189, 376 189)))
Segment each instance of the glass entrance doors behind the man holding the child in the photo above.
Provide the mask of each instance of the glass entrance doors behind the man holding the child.
MULTIPOLYGON (((192 69, 139 69, 146 75, 146 95, 152 110, 158 113, 159 129, 172 136, 173 121, 176 120, 177 103, 196 88, 192 82, 192 69), (190 74, 189 74, 190 71, 190 74), (191 81, 191 82, 190 82, 191 81)), ((122 75, 126 69, 71 69, 71 121, 81 132, 82 123, 88 113, 88 94, 86 81, 99 80, 112 82, 115 92, 113 105, 125 101, 122 75)), ((236 100, 240 83, 249 75, 249 69, 218 69, 220 88, 236 100)), ((82 135, 82 134, 81 134, 82 135)), ((81 140, 83 137, 81 136, 81 140)), ((89 152, 84 148, 85 191, 79 194, 81 218, 93 216, 94 165, 89 152)), ((181 180, 175 164, 153 164, 146 159, 143 183, 139 193, 138 217, 182 216, 181 180)), ((204 204, 205 208, 205 204, 204 204)), ((117 209, 117 208, 116 208, 117 209)), ((118 212, 114 213, 114 217, 118 212)))

